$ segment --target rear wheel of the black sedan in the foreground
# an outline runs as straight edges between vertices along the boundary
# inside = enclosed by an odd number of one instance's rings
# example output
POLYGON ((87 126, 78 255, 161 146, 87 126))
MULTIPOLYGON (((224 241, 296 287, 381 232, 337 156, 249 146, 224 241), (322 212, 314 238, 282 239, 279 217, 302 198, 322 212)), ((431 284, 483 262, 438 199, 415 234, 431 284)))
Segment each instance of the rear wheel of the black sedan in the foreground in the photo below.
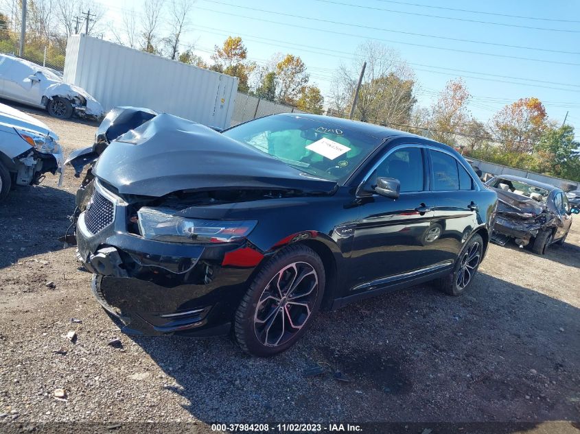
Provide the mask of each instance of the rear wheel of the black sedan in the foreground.
POLYGON ((483 257, 483 239, 478 234, 463 245, 453 271, 443 278, 437 279, 438 289, 450 296, 459 296, 471 285, 483 257))

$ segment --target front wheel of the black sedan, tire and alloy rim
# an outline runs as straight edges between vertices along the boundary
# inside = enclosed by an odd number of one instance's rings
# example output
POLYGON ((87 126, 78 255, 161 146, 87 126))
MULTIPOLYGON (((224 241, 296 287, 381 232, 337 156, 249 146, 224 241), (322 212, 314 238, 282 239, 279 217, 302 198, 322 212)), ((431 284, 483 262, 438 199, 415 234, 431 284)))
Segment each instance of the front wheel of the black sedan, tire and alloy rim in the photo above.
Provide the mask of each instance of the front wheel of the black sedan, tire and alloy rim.
POLYGON ((271 357, 300 339, 320 308, 325 288, 320 256, 305 245, 281 250, 257 274, 235 313, 244 352, 271 357))

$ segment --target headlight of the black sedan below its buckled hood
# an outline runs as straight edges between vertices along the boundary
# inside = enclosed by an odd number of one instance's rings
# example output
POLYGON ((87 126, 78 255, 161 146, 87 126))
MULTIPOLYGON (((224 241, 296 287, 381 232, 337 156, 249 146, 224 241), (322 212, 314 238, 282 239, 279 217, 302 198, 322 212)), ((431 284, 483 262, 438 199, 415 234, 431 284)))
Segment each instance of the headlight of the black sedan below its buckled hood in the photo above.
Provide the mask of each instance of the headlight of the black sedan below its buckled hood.
POLYGON ((137 211, 139 232, 147 239, 174 243, 231 243, 247 237, 257 221, 189 219, 172 210, 143 206, 137 211))

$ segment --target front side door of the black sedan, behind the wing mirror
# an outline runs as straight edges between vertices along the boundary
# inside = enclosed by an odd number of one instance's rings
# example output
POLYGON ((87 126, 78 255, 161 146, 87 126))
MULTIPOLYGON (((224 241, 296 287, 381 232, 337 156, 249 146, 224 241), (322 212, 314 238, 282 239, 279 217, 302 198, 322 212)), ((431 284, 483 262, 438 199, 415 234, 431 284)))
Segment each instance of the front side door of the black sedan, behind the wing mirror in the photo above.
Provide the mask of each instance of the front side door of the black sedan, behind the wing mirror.
POLYGON ((432 265, 428 239, 434 200, 428 191, 425 153, 412 145, 391 149, 365 182, 370 186, 378 176, 395 178, 401 193, 397 199, 377 194, 359 198, 360 220, 349 261, 351 275, 356 276, 353 293, 391 285, 432 265))

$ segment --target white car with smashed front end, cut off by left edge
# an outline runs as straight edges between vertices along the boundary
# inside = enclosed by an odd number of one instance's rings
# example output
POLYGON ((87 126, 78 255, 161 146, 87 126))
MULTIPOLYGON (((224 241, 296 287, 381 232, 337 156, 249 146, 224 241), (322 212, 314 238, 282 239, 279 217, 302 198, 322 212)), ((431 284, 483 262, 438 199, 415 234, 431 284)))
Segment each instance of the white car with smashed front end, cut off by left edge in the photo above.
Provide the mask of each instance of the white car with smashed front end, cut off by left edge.
POLYGON ((0 202, 14 185, 38 184, 44 173, 60 173, 58 136, 34 117, 0 104, 0 202))

